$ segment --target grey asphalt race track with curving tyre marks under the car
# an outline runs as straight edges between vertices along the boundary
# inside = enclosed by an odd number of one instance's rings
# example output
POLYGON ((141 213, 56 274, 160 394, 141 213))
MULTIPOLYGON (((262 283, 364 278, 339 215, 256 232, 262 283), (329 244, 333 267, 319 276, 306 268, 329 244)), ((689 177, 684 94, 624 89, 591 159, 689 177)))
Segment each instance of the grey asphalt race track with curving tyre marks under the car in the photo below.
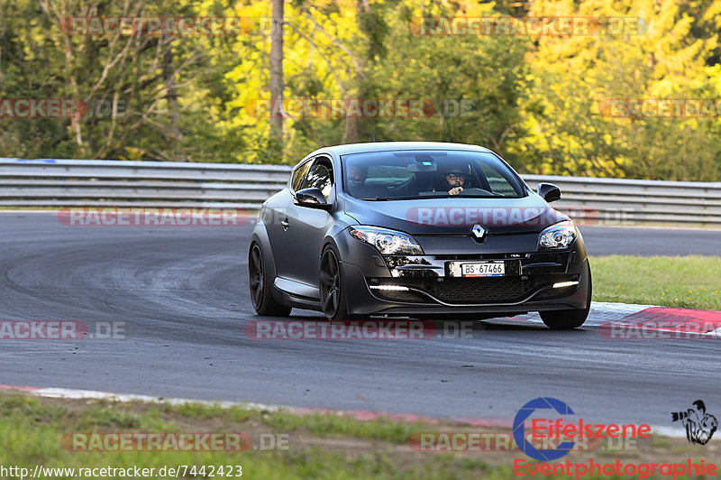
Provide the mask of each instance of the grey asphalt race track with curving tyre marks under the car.
MULTIPOLYGON (((0 340, 0 383, 500 419, 551 396, 590 420, 655 425, 698 398, 709 409, 721 402, 721 344, 611 341, 594 321, 570 332, 486 322, 474 338, 251 339, 243 332, 257 319, 250 232, 63 226, 52 212, 0 213, 0 320, 124 322, 125 330, 112 339, 0 340)), ((718 254, 721 245, 719 230, 582 232, 592 255, 718 254)))

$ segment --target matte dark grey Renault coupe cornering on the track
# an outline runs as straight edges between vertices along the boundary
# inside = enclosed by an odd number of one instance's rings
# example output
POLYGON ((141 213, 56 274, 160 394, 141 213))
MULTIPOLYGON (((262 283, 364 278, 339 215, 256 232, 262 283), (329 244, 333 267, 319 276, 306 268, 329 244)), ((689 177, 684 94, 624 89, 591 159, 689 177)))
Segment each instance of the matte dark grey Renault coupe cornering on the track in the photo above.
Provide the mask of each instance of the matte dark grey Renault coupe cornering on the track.
POLYGON ((458 143, 319 149, 260 208, 248 259, 253 307, 333 321, 371 315, 484 319, 538 311, 577 328, 591 302, 586 247, 490 150, 458 143))

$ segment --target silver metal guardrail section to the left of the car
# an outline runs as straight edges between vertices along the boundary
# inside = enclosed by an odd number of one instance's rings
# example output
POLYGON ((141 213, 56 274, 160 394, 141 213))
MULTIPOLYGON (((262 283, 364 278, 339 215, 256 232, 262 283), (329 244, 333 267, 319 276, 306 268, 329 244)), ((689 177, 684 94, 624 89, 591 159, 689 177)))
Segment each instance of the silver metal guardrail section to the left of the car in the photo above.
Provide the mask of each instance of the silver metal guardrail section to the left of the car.
POLYGON ((290 167, 0 158, 0 206, 258 208, 290 167))

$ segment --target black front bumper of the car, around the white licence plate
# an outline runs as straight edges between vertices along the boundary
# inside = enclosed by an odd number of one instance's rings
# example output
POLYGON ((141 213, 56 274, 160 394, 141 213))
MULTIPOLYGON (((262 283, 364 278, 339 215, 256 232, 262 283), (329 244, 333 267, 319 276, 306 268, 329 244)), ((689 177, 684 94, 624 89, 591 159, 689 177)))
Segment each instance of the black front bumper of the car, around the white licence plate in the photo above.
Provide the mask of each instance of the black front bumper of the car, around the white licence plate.
POLYGON ((493 317, 588 306, 589 264, 580 237, 562 253, 483 253, 481 248, 456 254, 384 256, 359 242, 345 246, 350 251, 342 254, 342 278, 351 314, 488 313, 493 317), (506 274, 460 276, 460 263, 478 261, 503 262, 506 274))

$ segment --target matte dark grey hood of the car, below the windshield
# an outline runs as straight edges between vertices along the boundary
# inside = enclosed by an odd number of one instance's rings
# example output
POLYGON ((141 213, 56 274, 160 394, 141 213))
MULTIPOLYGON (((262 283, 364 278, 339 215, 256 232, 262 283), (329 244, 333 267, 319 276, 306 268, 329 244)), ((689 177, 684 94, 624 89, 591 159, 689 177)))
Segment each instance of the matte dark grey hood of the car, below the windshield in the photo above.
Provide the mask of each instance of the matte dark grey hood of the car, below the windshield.
POLYGON ((540 232, 570 219, 543 198, 423 198, 368 201, 346 198, 345 212, 360 225, 385 226, 414 235, 470 235, 474 225, 488 235, 540 232))

